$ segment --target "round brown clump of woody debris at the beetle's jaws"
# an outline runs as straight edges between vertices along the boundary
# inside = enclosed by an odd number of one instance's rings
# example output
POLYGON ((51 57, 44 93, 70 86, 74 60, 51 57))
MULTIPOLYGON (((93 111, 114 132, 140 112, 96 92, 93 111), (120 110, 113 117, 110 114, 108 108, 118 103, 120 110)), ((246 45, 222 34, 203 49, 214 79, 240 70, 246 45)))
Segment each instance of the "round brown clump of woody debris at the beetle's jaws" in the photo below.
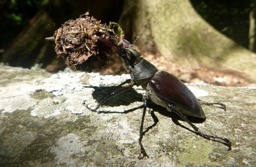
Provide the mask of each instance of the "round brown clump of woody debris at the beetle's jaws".
POLYGON ((88 15, 86 12, 76 20, 68 20, 53 35, 57 56, 61 56, 74 71, 100 71, 108 64, 108 56, 113 52, 98 39, 120 41, 114 29, 88 15))

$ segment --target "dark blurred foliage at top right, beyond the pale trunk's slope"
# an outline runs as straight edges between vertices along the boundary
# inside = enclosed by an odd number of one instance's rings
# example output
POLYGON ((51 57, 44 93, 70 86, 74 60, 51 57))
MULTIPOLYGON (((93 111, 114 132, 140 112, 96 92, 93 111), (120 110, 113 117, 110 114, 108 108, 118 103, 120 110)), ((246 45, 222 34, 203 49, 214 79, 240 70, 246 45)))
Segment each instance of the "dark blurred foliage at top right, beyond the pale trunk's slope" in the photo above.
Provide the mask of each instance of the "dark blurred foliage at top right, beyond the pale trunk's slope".
POLYGON ((190 0, 196 11, 214 28, 248 48, 250 0, 190 0))

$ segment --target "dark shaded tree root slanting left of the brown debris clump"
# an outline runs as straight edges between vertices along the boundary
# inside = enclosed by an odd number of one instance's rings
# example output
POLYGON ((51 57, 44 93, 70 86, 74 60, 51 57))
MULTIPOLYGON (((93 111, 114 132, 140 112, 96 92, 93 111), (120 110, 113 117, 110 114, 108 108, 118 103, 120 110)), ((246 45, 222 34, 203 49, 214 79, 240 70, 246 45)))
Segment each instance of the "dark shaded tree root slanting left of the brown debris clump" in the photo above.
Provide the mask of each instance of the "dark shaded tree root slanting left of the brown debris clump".
POLYGON ((51 31, 46 30, 46 27, 52 22, 45 10, 37 13, 29 25, 14 39, 11 46, 3 54, 1 61, 14 66, 23 64, 25 67, 29 67, 34 63, 42 62, 46 55, 54 55, 53 50, 48 49, 52 47, 52 43, 42 40, 51 34, 51 31))

